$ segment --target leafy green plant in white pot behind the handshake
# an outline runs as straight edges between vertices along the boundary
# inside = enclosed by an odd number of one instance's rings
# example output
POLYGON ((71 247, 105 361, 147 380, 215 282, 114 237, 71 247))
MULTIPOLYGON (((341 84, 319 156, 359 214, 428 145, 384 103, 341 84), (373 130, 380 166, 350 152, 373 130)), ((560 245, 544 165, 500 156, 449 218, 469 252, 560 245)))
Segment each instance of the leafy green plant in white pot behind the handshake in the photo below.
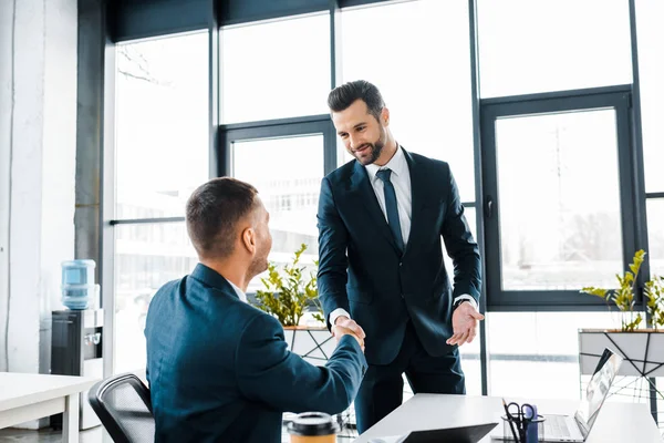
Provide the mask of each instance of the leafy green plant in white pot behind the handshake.
POLYGON ((318 299, 317 269, 307 271, 301 262, 307 245, 295 250, 291 262, 281 269, 270 262, 268 277, 261 278, 264 290, 256 291, 255 306, 274 316, 283 326, 286 342, 292 352, 314 364, 324 364, 334 351, 335 342, 323 320, 323 310, 318 299), (302 324, 311 310, 315 324, 302 324))

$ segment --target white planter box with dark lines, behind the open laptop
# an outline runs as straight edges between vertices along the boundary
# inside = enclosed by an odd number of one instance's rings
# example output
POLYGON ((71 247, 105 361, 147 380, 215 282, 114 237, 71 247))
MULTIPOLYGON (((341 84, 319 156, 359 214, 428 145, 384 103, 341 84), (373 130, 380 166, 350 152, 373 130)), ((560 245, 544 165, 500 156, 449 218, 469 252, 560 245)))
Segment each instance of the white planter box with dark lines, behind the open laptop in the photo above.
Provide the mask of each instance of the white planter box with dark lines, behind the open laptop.
POLYGON ((581 374, 591 375, 609 348, 625 359, 619 375, 664 377, 664 331, 640 329, 633 332, 608 329, 579 330, 581 374))

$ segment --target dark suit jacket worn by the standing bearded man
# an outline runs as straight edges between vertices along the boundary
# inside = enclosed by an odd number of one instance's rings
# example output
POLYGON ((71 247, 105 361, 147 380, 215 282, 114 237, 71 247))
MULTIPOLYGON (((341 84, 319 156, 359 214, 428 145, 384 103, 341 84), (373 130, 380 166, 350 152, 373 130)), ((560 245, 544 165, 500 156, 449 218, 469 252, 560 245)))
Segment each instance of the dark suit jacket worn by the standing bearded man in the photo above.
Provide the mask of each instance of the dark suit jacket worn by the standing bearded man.
MULTIPOLYGON (((401 147, 400 147, 401 148, 401 147)), ((413 212, 408 244, 398 253, 364 166, 352 161, 323 178, 319 200, 319 295, 325 317, 349 311, 366 332, 369 363, 398 353, 408 319, 432 356, 452 350, 452 302, 480 295, 477 244, 445 162, 405 152, 413 212), (454 291, 440 238, 454 262, 454 291)), ((330 324, 328 324, 330 326, 330 324)))

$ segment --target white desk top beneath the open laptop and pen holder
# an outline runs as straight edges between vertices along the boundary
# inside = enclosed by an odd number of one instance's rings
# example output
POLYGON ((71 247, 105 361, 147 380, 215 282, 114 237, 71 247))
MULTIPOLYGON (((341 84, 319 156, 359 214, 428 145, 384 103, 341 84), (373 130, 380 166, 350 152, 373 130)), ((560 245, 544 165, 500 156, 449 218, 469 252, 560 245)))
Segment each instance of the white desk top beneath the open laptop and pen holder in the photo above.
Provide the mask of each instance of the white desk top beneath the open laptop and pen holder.
MULTIPOLYGON (((515 399, 506 398, 506 401, 515 399)), ((533 400, 540 414, 573 414, 574 401, 533 400)), ((455 427, 498 422, 498 426, 481 443, 491 442, 490 435, 502 432, 502 403, 495 396, 417 394, 363 433, 354 443, 366 443, 371 437, 403 435, 413 430, 455 427)), ((662 442, 657 425, 645 404, 605 403, 600 411, 587 443, 662 442)))

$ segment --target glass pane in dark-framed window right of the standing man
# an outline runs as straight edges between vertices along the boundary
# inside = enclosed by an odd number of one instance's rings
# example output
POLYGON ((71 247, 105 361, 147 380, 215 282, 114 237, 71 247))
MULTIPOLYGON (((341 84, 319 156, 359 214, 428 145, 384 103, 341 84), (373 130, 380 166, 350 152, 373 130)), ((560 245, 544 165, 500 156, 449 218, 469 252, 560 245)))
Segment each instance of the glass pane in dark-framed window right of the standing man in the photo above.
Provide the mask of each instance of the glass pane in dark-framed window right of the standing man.
POLYGON ((505 290, 612 287, 622 271, 613 110, 496 121, 505 290))

